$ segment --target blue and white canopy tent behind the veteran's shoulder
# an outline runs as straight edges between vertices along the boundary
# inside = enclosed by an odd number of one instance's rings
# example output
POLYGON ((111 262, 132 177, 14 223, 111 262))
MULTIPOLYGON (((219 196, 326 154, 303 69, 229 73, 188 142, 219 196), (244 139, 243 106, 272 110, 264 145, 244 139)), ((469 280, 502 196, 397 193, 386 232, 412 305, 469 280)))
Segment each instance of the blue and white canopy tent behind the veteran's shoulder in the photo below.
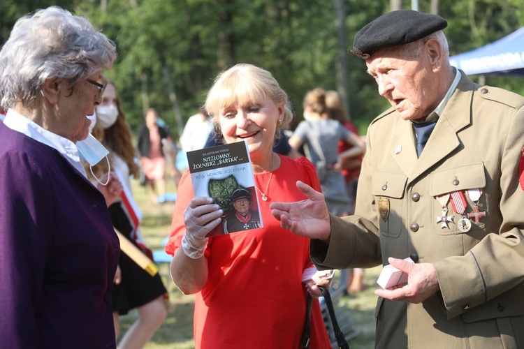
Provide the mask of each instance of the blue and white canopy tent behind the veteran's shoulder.
POLYGON ((452 66, 467 75, 524 75, 524 27, 500 40, 463 54, 449 57, 452 66))

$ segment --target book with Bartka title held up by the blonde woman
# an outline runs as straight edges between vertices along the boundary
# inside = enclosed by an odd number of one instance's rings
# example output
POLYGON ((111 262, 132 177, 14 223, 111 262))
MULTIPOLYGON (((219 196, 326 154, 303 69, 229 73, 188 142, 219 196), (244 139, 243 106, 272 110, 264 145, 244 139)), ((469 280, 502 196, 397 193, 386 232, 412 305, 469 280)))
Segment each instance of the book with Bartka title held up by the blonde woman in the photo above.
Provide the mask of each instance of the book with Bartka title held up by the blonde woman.
POLYGON ((187 152, 195 196, 209 196, 224 210, 208 236, 262 228, 247 142, 187 152))

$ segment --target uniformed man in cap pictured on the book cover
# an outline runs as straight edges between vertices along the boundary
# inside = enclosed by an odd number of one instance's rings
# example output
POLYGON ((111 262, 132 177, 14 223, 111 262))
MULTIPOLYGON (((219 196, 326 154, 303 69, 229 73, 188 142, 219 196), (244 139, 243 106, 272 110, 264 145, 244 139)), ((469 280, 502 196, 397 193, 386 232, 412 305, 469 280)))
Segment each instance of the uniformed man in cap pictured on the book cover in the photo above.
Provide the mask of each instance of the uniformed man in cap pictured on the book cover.
POLYGON ((249 230, 260 228, 260 216, 258 211, 252 211, 251 191, 245 188, 238 188, 233 191, 233 207, 235 207, 235 214, 228 216, 224 220, 223 228, 224 234, 230 232, 240 232, 241 230, 249 230))

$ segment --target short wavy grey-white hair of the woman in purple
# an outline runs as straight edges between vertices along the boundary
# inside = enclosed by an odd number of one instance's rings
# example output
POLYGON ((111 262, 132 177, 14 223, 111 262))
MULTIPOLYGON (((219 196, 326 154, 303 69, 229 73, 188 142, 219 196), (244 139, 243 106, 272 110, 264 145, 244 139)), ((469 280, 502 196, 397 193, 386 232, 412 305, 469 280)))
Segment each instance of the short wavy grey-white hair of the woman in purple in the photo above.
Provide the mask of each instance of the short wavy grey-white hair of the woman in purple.
POLYGON ((0 51, 0 106, 30 106, 52 77, 74 86, 116 58, 115 43, 58 6, 21 17, 0 51))

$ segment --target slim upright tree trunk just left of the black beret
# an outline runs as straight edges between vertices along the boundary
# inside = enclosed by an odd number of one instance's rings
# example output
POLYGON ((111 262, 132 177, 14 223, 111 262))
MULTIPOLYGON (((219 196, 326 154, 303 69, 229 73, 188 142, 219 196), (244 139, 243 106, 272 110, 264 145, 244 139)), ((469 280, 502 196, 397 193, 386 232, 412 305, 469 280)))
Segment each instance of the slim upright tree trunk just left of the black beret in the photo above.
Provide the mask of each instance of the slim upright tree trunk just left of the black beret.
POLYGON ((337 31, 337 90, 346 110, 347 118, 351 120, 349 109, 349 70, 347 67, 347 37, 346 37, 346 11, 344 0, 334 1, 335 30, 337 31))

